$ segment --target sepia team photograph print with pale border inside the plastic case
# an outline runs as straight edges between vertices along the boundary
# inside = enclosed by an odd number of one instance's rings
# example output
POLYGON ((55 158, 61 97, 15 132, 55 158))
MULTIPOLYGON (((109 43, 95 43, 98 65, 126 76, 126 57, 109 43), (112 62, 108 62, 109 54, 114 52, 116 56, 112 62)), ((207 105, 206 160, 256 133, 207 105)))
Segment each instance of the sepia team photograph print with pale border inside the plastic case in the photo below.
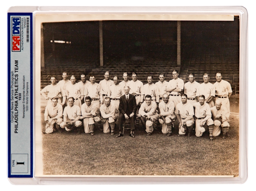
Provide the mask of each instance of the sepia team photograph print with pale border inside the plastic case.
POLYGON ((239 174, 239 16, 36 15, 36 176, 239 174))

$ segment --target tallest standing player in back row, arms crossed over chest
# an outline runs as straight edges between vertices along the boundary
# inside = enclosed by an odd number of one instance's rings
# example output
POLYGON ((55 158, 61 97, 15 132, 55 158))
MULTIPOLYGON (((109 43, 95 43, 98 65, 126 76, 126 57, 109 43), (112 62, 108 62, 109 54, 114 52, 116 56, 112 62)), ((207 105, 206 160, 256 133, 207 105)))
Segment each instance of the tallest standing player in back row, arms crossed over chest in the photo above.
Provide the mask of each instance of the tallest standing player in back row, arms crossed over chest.
POLYGON ((178 103, 181 102, 181 92, 184 88, 184 81, 178 78, 179 73, 177 70, 172 71, 173 79, 169 81, 167 86, 167 91, 170 92, 169 100, 171 100, 175 107, 178 103))

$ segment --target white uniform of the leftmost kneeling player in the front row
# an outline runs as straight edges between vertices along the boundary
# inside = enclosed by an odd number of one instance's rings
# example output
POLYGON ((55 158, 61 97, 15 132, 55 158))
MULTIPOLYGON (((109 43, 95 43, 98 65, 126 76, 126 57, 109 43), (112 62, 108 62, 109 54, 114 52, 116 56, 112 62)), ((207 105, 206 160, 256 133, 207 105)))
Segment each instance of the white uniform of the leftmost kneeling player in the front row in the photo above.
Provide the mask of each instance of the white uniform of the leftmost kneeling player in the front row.
POLYGON ((53 106, 52 104, 48 104, 45 107, 44 120, 49 121, 49 119, 54 118, 54 117, 56 119, 53 119, 50 125, 47 123, 45 126, 46 134, 53 132, 54 124, 60 125, 63 122, 63 120, 62 120, 62 105, 60 105, 58 103, 56 106, 53 106))

